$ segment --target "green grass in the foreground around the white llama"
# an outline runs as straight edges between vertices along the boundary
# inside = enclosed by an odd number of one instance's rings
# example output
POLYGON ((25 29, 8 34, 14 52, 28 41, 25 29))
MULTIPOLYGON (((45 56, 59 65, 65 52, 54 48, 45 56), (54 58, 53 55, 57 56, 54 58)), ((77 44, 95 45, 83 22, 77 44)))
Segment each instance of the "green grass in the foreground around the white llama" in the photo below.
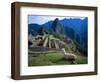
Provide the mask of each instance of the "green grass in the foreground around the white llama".
MULTIPOLYGON (((46 65, 69 65, 72 61, 66 60, 61 52, 41 54, 33 57, 29 54, 28 66, 46 66, 46 65)), ((77 55, 76 64, 87 64, 87 57, 77 55)))

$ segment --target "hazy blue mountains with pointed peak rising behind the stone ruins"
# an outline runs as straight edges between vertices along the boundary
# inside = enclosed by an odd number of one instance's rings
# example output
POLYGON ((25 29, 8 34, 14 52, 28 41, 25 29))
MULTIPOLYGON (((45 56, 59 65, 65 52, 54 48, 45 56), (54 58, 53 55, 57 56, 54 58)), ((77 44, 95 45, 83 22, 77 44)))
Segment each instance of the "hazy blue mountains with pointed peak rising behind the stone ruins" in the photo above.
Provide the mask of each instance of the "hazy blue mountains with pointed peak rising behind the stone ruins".
POLYGON ((28 24, 28 34, 33 36, 51 33, 59 37, 69 37, 81 47, 87 48, 88 18, 65 18, 48 21, 42 25, 28 24))

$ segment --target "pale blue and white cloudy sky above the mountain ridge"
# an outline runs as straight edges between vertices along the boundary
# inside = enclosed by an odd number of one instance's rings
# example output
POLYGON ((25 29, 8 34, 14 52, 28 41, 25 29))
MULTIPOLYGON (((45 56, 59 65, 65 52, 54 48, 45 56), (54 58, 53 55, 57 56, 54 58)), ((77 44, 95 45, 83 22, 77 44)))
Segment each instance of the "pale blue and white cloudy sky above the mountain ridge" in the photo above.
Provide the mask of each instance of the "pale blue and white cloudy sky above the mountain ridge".
POLYGON ((56 17, 56 16, 35 16, 35 15, 29 15, 28 16, 28 24, 31 23, 35 23, 35 24, 44 24, 48 21, 52 21, 55 20, 56 18, 59 18, 59 20, 62 20, 64 18, 80 18, 80 19, 84 19, 85 17, 56 17))

